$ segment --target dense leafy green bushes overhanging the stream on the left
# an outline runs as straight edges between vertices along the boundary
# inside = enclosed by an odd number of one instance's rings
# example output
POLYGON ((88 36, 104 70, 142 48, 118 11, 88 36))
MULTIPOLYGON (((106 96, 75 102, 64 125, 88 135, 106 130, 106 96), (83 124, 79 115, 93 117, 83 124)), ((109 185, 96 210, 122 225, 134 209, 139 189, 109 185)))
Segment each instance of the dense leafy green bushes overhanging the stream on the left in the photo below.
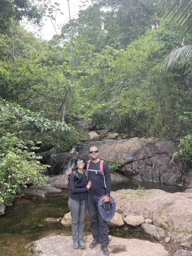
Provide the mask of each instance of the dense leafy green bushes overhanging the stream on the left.
MULTIPOLYGON (((26 184, 47 185, 42 175, 47 165, 40 165, 38 149, 31 143, 30 150, 18 139, 23 129, 70 131, 65 123, 49 121, 43 113, 33 113, 18 104, 0 100, 0 202, 10 205, 16 193, 26 184)), ((40 143, 40 142, 37 142, 40 143)))

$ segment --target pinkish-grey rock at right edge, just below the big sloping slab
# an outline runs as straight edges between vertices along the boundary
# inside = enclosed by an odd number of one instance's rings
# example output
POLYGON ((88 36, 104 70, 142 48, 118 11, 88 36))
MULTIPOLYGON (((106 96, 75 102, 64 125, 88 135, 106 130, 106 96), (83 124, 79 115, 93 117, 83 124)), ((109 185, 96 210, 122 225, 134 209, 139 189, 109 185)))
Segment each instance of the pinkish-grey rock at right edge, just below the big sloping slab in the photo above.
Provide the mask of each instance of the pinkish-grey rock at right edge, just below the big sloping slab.
POLYGON ((192 235, 186 233, 177 233, 174 231, 168 232, 168 236, 177 244, 184 246, 186 248, 191 248, 192 246, 192 235))

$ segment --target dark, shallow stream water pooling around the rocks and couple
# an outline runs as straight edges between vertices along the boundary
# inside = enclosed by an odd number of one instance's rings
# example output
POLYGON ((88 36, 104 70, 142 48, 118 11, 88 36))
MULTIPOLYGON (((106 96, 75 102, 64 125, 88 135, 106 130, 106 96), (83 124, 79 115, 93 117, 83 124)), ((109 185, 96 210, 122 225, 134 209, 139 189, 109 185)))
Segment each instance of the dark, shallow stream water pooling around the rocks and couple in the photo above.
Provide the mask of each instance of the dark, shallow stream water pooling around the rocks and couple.
MULTIPOLYGON (((161 189, 166 192, 182 192, 184 188, 158 182, 121 182, 112 184, 111 191, 119 189, 161 189)), ((63 218, 69 212, 66 191, 46 198, 17 197, 13 205, 0 218, 0 255, 1 256, 32 256, 26 245, 49 235, 71 236, 71 228, 62 227, 59 222, 47 222, 45 218, 63 218)), ((85 218, 85 235, 91 234, 89 216, 85 218)), ((109 234, 125 238, 151 240, 141 228, 110 228, 109 234)))

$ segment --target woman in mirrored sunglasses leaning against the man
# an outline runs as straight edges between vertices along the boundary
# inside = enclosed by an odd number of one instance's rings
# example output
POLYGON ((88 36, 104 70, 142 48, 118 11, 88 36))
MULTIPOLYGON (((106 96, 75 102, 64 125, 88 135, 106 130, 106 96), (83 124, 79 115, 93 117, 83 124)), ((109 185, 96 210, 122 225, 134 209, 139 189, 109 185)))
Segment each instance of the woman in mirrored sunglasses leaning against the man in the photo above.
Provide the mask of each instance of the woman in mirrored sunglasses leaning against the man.
POLYGON ((73 170, 70 174, 71 194, 68 206, 72 217, 73 247, 75 249, 85 248, 83 234, 85 227, 85 215, 87 212, 87 191, 91 187, 91 182, 87 181, 86 170, 84 170, 85 160, 83 157, 75 159, 78 170, 73 170))

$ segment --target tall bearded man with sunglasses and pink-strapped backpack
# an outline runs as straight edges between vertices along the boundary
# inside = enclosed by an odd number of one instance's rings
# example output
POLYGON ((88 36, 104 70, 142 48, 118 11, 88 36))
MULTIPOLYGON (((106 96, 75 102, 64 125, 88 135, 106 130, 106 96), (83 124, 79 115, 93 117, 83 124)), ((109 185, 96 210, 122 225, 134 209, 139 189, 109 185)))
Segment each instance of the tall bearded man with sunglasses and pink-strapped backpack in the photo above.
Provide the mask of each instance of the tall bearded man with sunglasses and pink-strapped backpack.
MULTIPOLYGON (((109 236, 107 230, 107 221, 101 217, 98 209, 98 202, 102 195, 105 194, 104 203, 109 202, 110 196, 110 185, 111 176, 110 169, 106 162, 103 164, 104 176, 101 172, 96 172, 100 170, 101 160, 98 158, 99 151, 97 147, 91 147, 89 149, 89 155, 91 157, 91 162, 88 167, 88 180, 91 181, 91 187, 88 190, 87 201, 88 201, 88 212, 91 219, 91 232, 93 234, 93 241, 90 243, 90 248, 94 248, 101 244, 101 249, 105 255, 109 255, 109 250, 107 245, 109 244, 109 236), (104 181, 105 179, 105 181, 104 181)), ((87 169, 87 163, 85 163, 85 169, 87 169)), ((69 170, 69 173, 71 171, 69 170)))

